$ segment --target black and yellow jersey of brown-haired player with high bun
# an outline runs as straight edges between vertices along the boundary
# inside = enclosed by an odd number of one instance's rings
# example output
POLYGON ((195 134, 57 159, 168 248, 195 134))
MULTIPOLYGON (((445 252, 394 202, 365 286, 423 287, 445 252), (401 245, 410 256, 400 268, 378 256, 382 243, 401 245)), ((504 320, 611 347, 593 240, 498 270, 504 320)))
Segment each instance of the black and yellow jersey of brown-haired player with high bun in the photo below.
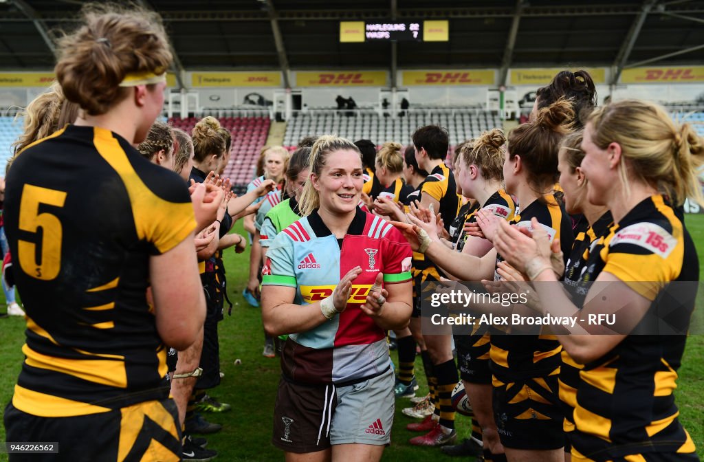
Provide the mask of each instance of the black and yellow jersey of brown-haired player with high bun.
MULTIPOLYGON (((550 239, 560 239, 565 255, 572 249, 572 223, 565 209, 552 194, 536 199, 522 208, 509 223, 532 229, 531 219, 536 218, 550 239)), ((501 256, 497 261, 501 261, 501 256)), ((495 275, 498 280, 498 275, 495 275)), ((558 373, 562 346, 555 335, 501 335, 491 330, 491 372, 496 380, 509 383, 519 378, 541 377, 558 373)))

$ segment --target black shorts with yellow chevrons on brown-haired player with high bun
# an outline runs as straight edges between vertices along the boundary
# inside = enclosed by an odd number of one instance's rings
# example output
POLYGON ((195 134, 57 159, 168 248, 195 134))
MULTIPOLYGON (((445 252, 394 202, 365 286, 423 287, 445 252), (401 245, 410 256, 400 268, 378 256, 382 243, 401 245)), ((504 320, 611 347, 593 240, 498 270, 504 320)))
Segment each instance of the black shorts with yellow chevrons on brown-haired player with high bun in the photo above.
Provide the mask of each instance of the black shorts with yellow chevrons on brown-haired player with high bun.
POLYGON ((561 449, 565 446, 558 400, 558 374, 501 383, 492 389, 494 418, 501 444, 510 449, 561 449), (541 384, 546 384, 547 388, 541 384))

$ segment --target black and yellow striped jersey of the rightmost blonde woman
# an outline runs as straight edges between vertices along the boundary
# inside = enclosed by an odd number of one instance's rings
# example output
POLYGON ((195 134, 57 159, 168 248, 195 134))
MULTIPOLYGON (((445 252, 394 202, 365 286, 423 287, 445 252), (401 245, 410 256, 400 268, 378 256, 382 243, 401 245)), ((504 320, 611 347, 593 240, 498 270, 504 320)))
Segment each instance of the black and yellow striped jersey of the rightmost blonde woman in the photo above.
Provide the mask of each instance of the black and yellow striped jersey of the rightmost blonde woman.
MULTIPOLYGON (((667 283, 699 279, 696 248, 659 194, 641 201, 598 240, 586 272, 602 271, 636 282, 629 285, 646 299, 671 297, 668 308, 684 311, 678 317, 689 323, 696 291, 674 295, 667 283)), ((687 325, 677 327, 686 331, 687 325)), ((677 461, 676 454, 693 453, 673 395, 685 342, 684 335, 631 334, 586 364, 579 372, 573 454, 601 461, 659 453, 669 454, 662 460, 677 461)))

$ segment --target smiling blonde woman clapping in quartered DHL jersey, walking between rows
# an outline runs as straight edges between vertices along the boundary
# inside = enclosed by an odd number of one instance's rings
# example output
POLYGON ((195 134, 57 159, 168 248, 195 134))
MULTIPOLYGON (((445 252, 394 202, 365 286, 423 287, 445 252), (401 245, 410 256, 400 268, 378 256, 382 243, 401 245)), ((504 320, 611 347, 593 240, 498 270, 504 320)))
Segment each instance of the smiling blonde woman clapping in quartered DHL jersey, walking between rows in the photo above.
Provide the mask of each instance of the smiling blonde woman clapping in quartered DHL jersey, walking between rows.
POLYGON ((365 213, 359 150, 320 137, 301 196, 304 217, 267 252, 262 314, 289 334, 272 442, 287 461, 378 461, 394 420, 386 330, 408 325, 408 242, 365 213))

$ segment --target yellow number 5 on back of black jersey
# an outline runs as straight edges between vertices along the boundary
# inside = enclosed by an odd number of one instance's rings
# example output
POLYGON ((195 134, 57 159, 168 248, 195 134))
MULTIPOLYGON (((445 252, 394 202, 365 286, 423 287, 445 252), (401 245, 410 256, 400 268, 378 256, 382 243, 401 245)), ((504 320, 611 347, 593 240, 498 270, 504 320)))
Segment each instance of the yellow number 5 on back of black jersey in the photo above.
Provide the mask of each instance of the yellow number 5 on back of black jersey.
POLYGON ((39 213, 39 206, 63 207, 66 193, 39 186, 25 185, 20 201, 20 230, 37 234, 42 228, 42 242, 37 243, 18 239, 17 250, 20 268, 36 279, 50 281, 58 276, 61 269, 61 221, 48 212, 39 213), (39 261, 37 261, 39 254, 39 261))

